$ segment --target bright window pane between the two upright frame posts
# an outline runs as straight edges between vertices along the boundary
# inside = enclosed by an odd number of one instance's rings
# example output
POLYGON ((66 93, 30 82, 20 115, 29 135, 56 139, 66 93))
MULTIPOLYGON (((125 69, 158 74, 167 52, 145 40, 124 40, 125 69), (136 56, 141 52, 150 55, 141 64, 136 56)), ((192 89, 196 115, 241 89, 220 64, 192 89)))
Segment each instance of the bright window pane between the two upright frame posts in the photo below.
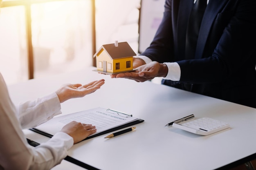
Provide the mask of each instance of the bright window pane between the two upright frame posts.
POLYGON ((31 6, 34 77, 92 65, 90 0, 31 6))

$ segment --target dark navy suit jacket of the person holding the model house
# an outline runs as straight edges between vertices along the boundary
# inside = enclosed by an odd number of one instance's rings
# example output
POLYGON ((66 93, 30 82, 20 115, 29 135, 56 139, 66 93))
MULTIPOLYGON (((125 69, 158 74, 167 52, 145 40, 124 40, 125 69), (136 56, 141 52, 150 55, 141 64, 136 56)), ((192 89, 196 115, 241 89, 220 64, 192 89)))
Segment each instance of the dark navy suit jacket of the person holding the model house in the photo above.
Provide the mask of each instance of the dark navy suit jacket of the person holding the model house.
POLYGON ((150 47, 157 62, 177 62, 179 82, 164 84, 256 107, 256 0, 209 0, 193 60, 185 60, 186 27, 193 0, 166 0, 150 47))

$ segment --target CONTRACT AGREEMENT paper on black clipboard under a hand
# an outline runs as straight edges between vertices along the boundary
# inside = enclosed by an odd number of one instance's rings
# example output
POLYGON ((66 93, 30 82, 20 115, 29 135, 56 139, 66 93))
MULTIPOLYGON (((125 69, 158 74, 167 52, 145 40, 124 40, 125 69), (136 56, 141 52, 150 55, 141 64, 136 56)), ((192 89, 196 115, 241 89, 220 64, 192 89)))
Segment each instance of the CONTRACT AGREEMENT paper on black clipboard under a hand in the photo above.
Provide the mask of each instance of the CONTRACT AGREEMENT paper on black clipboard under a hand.
POLYGON ((121 113, 115 110, 98 107, 54 117, 53 119, 50 119, 49 121, 30 130, 38 132, 41 135, 52 137, 56 132, 59 132, 63 126, 71 121, 96 126, 97 132, 86 138, 90 139, 91 137, 103 135, 108 132, 141 123, 144 120, 133 117, 127 113, 121 113))

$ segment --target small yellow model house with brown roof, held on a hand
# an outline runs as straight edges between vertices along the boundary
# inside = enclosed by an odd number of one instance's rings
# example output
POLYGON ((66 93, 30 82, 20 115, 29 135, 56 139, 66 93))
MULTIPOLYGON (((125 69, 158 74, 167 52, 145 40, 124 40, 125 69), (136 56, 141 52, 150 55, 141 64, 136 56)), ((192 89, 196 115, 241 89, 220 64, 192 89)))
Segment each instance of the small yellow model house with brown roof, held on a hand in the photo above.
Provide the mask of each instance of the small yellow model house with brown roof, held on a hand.
POLYGON ((93 55, 96 57, 97 71, 103 73, 118 73, 133 71, 132 57, 136 53, 128 42, 115 42, 102 45, 93 55))

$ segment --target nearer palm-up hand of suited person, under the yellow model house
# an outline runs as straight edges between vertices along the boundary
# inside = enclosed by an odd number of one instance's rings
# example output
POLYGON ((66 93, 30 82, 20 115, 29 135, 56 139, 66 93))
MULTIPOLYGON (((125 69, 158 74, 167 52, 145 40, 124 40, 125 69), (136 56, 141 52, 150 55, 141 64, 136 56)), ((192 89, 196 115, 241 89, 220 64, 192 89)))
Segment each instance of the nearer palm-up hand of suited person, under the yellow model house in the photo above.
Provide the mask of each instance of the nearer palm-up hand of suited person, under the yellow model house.
POLYGON ((136 82, 145 82, 155 77, 166 77, 168 68, 166 64, 160 64, 159 62, 150 62, 137 67, 136 71, 119 73, 110 75, 111 78, 127 78, 133 79, 136 82))

